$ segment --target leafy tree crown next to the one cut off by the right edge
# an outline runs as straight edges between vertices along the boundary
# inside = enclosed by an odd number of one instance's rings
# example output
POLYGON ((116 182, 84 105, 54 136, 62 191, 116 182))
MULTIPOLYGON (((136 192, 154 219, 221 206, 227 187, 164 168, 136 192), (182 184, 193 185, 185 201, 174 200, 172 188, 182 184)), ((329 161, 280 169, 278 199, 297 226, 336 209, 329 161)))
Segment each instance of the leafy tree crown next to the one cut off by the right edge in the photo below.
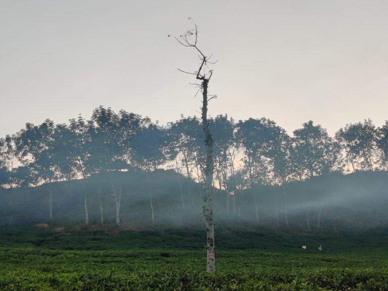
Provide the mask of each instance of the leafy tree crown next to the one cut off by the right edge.
POLYGON ((335 133, 353 172, 357 170, 357 165, 361 170, 373 171, 377 163, 377 135, 378 131, 370 119, 364 119, 363 123, 347 124, 335 133))

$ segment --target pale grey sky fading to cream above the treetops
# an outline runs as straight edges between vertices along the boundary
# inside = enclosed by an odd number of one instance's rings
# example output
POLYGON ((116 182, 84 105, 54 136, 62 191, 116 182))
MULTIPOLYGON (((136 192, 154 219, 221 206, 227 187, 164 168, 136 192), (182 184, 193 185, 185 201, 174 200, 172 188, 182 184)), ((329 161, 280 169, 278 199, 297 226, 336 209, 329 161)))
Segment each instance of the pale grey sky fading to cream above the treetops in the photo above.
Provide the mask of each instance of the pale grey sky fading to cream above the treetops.
POLYGON ((100 105, 154 122, 200 116, 195 51, 218 60, 209 114, 266 117, 290 135, 313 120, 333 136, 388 119, 384 0, 0 0, 0 137, 100 105))

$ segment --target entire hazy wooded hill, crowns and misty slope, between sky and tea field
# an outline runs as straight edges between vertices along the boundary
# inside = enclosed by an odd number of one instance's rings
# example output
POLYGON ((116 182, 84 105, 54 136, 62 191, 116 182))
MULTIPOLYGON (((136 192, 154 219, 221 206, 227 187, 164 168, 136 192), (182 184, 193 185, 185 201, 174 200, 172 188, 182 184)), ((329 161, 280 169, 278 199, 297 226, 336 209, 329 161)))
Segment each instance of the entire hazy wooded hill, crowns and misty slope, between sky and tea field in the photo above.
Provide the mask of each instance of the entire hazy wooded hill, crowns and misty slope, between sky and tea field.
MULTIPOLYGON (((293 136, 266 118, 209 119, 219 224, 273 228, 385 226, 388 122, 370 119, 330 137, 303 123, 293 136)), ((201 225, 201 121, 166 126, 96 108, 90 120, 27 123, 0 139, 0 225, 201 225)))

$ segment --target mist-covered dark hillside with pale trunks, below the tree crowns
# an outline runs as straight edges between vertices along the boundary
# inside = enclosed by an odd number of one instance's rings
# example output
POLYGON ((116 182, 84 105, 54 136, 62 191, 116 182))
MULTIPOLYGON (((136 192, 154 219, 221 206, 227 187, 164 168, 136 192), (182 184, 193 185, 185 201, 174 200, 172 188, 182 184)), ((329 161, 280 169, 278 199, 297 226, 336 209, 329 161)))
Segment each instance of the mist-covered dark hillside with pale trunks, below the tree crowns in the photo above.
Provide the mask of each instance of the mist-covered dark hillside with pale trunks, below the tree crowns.
MULTIPOLYGON (((388 171, 330 173, 284 185, 214 189, 220 228, 362 230, 388 226, 388 171)), ((0 225, 201 227, 202 185, 173 170, 109 171, 85 179, 3 189, 0 225), (185 187, 184 187, 185 186, 185 187)))

